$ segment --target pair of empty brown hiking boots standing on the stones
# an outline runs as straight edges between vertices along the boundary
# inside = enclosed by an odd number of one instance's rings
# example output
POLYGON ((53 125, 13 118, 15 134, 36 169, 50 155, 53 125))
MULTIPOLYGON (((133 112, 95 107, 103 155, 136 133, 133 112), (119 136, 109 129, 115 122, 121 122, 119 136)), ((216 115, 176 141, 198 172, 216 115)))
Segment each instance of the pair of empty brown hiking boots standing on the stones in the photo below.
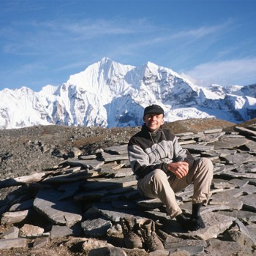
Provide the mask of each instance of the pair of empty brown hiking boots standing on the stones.
POLYGON ((127 248, 144 248, 149 252, 165 249, 155 232, 155 224, 151 219, 138 221, 133 217, 122 218, 121 227, 127 248))

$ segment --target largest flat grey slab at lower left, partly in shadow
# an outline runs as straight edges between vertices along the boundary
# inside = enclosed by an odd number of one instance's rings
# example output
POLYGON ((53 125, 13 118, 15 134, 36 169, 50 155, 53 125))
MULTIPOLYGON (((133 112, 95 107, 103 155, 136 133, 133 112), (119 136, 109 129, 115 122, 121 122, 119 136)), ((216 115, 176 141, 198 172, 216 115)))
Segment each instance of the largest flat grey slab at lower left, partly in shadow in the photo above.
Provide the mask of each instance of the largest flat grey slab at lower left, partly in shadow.
POLYGON ((60 192, 54 189, 39 189, 34 208, 56 225, 74 225, 80 222, 80 208, 72 200, 58 200, 60 192))

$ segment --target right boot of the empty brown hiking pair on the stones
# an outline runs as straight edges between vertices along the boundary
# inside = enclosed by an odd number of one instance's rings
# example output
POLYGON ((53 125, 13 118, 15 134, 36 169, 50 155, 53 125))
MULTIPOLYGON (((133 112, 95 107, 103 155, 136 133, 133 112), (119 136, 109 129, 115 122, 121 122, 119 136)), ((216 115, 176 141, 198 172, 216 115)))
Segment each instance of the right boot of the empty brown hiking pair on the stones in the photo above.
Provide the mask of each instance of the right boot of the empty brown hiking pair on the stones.
POLYGON ((147 219, 145 222, 140 222, 139 225, 143 242, 149 252, 165 249, 162 241, 157 236, 157 233, 155 233, 155 225, 151 219, 147 219))

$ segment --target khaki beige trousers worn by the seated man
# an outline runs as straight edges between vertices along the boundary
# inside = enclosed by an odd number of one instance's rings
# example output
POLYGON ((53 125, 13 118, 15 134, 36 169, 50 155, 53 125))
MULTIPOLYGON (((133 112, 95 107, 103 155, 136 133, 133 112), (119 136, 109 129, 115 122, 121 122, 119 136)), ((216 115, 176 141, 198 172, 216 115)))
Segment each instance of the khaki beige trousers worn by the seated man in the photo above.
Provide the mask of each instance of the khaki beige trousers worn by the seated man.
POLYGON ((213 172, 211 160, 203 157, 195 161, 195 165, 184 178, 167 176, 161 169, 153 170, 138 181, 138 190, 143 197, 159 198, 165 204, 167 214, 174 218, 182 213, 176 202, 175 193, 185 189, 189 184, 194 184, 192 203, 208 203, 211 197, 213 172))

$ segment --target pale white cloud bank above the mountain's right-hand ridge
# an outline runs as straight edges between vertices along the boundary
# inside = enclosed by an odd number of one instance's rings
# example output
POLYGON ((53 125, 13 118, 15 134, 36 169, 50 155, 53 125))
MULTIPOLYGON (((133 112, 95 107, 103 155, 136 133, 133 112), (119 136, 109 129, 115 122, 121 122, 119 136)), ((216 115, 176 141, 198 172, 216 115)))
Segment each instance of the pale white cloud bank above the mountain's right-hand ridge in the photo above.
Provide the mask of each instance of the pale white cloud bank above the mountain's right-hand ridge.
POLYGON ((256 58, 208 62, 197 65, 182 74, 193 83, 209 86, 249 85, 256 83, 256 58))

